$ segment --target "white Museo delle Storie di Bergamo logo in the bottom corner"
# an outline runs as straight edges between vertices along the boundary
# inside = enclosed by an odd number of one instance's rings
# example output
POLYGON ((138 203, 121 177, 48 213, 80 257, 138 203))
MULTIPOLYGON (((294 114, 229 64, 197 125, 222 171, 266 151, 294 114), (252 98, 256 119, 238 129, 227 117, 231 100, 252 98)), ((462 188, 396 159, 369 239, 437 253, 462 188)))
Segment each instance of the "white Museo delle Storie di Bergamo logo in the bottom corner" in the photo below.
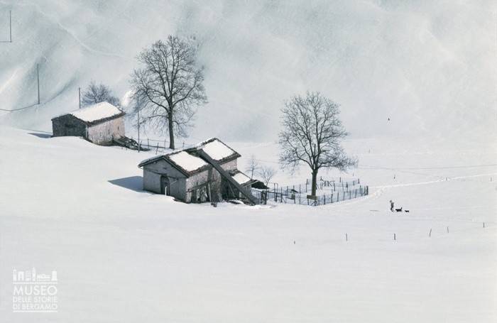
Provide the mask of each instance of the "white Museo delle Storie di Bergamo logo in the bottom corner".
POLYGON ((12 270, 13 312, 57 312, 57 271, 37 273, 31 270, 12 270))

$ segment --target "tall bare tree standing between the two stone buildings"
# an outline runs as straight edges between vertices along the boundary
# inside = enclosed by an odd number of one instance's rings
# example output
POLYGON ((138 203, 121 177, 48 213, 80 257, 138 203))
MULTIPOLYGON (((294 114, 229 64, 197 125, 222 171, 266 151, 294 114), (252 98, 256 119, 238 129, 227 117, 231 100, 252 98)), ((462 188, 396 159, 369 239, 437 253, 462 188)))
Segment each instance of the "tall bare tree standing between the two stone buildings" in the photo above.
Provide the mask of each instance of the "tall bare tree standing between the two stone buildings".
POLYGON ((187 136, 195 108, 207 103, 203 67, 197 66, 197 46, 170 35, 138 55, 143 68, 134 70, 131 85, 145 97, 143 121, 160 131, 169 131, 169 148, 175 148, 175 134, 187 136))

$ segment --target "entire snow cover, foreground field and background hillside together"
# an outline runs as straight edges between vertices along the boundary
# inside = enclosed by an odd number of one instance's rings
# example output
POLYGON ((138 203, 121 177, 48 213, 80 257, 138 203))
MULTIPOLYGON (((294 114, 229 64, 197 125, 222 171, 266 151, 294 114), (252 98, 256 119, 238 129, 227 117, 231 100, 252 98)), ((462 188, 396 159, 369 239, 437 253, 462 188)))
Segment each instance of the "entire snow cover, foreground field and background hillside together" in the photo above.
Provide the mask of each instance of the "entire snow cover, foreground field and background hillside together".
POLYGON ((0 323, 497 322, 496 13, 492 0, 0 0, 0 323), (126 109, 136 55, 169 34, 198 40, 209 99, 178 147, 218 137, 240 170, 253 155, 272 181, 305 182, 278 167, 280 108, 320 91, 359 165, 319 175, 370 194, 183 204, 142 190, 154 151, 51 138, 92 80, 126 109), (13 312, 13 270, 31 268, 55 270, 58 312, 13 312))

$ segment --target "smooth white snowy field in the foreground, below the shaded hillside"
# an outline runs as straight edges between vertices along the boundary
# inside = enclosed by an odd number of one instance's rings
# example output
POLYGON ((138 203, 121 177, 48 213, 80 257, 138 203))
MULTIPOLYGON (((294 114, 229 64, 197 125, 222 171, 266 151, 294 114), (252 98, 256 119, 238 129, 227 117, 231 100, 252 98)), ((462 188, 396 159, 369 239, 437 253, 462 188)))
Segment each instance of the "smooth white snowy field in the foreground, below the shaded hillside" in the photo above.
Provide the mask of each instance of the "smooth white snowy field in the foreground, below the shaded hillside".
POLYGON ((214 208, 141 191, 152 153, 0 138, 0 322, 497 321, 495 146, 349 141, 368 197, 214 208), (58 271, 57 313, 12 312, 12 270, 33 266, 58 271))

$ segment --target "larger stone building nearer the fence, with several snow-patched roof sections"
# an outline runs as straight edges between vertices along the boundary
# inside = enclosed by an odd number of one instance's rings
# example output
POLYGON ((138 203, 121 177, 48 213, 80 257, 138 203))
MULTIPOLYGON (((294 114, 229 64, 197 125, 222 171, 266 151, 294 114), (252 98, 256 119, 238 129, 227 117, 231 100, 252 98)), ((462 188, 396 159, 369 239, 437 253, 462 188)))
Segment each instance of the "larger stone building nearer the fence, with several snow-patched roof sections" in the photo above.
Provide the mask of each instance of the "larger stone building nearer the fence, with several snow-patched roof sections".
POLYGON ((238 199, 243 195, 239 189, 250 194, 251 184, 255 182, 236 168, 239 157, 235 150, 212 138, 192 148, 148 158, 138 165, 143 168, 143 190, 188 203, 238 199), (197 153, 199 148, 239 184, 238 188, 197 153))

